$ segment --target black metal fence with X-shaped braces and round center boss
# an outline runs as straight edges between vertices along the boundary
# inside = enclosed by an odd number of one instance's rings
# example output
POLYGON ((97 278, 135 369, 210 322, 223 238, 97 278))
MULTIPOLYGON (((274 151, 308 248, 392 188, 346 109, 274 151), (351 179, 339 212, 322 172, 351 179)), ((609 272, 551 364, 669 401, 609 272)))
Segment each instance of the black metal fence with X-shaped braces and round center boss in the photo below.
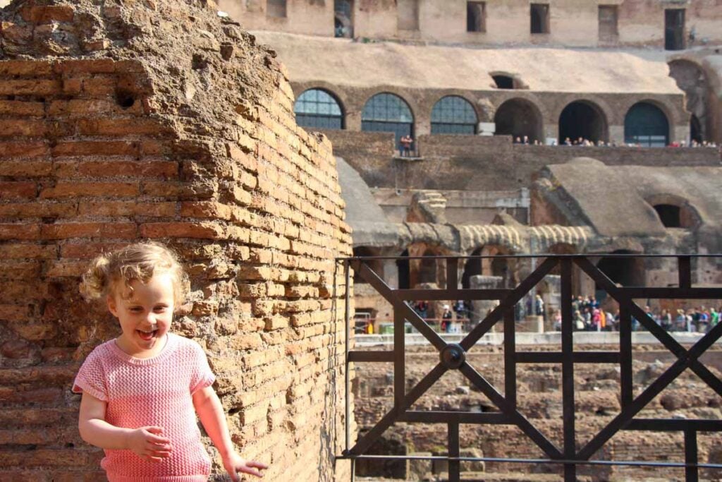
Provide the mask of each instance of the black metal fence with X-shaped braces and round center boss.
MULTIPOLYGON (((346 259, 347 279, 348 264, 367 283, 375 288, 383 298, 393 306, 393 351, 349 351, 347 364, 361 361, 393 362, 393 408, 361 436, 356 444, 348 448, 342 457, 355 460, 362 458, 371 445, 378 440, 394 422, 426 422, 448 424, 448 463, 449 480, 460 480, 460 458, 458 426, 460 423, 492 423, 515 425, 531 439, 548 457, 564 466, 565 481, 574 481, 576 465, 590 458, 619 430, 653 430, 682 431, 685 440, 685 472, 687 481, 697 481, 698 467, 722 468, 722 465, 697 463, 697 432, 721 431, 722 421, 716 420, 677 420, 677 419, 635 419, 640 410, 656 397, 665 387, 679 376, 685 369, 691 369, 708 384, 718 395, 722 396, 722 381, 699 361, 713 343, 722 335, 722 323, 697 341, 687 350, 674 337, 661 328, 649 315, 638 306, 633 298, 680 298, 680 299, 719 299, 722 298, 721 288, 692 288, 690 256, 678 257, 679 288, 623 288, 615 285, 612 280, 601 272, 586 257, 566 255, 549 256, 539 267, 531 272, 516 288, 513 289, 459 289, 458 258, 446 259, 446 289, 392 289, 371 270, 362 258, 346 259), (544 276, 561 264, 561 301, 562 301, 562 351, 561 352, 517 352, 513 307, 526 293, 544 279, 544 276), (612 296, 620 307, 619 352, 575 352, 573 347, 573 320, 571 309, 571 278, 572 264, 577 264, 609 296, 612 296), (419 317, 407 303, 410 300, 499 300, 500 304, 469 332, 460 343, 447 343, 437 332, 419 317), (675 361, 661 376, 650 384, 637 397, 632 395, 632 317, 637 319, 676 357, 675 361), (504 395, 479 374, 466 361, 468 352, 479 339, 503 319, 504 325, 504 361, 505 373, 504 395), (440 361, 424 376, 409 392, 405 387, 404 366, 404 321, 409 321, 426 340, 438 351, 440 361), (516 400, 516 363, 562 363, 562 414, 563 414, 563 447, 556 447, 529 420, 517 410, 516 400), (574 363, 619 363, 621 382, 620 413, 612 419, 596 436, 579 450, 575 446, 575 405, 574 405, 574 363), (438 410, 410 410, 412 405, 425 394, 446 371, 458 369, 469 382, 473 383, 489 400, 499 408, 499 413, 470 413, 438 410)), ((348 285, 347 285, 348 296, 348 285)), ((348 303, 347 303, 348 306, 348 303)), ((347 330, 348 330, 347 319, 347 330)), ((347 371, 348 373, 348 371, 347 371)), ((348 415, 347 397, 347 415, 348 415)), ((347 417, 348 418, 348 417, 347 417)), ((611 462, 614 464, 614 462, 611 462)), ((632 462, 633 463, 633 462, 632 462)))

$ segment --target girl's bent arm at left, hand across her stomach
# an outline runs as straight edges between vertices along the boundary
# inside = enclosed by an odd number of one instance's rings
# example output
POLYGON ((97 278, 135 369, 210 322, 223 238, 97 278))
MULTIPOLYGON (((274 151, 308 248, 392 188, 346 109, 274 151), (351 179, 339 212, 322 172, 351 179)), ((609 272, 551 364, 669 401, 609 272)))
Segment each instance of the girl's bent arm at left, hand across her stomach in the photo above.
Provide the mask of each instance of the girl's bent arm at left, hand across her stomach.
POLYGON ((121 429, 105 421, 108 404, 83 393, 80 401, 78 429, 82 439, 101 449, 128 449, 146 460, 160 462, 170 457, 170 439, 160 436, 161 427, 147 426, 139 429, 121 429))

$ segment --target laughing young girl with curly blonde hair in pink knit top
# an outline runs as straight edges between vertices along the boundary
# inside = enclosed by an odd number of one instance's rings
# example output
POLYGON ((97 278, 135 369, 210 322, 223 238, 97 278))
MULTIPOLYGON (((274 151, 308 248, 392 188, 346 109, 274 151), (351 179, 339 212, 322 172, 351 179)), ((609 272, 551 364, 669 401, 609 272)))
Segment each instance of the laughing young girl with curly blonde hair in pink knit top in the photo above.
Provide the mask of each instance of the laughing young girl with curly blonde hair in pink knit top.
POLYGON ((73 385, 80 435, 105 449, 110 482, 206 481, 196 413, 233 481, 266 468, 235 452, 204 351, 170 332, 187 285, 173 253, 150 242, 97 257, 83 276, 83 295, 104 298, 122 331, 90 353, 73 385))

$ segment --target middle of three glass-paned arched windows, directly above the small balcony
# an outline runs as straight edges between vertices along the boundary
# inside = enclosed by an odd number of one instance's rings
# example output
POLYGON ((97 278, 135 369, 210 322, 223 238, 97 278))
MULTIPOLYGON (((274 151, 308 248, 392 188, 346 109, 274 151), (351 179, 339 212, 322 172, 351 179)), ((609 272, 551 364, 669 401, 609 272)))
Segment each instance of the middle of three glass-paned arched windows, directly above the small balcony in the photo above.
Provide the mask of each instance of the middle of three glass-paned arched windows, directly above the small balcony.
POLYGON ((370 132, 393 132, 396 147, 401 137, 414 137, 414 116, 409 105, 398 95, 376 94, 363 107, 361 130, 370 132))

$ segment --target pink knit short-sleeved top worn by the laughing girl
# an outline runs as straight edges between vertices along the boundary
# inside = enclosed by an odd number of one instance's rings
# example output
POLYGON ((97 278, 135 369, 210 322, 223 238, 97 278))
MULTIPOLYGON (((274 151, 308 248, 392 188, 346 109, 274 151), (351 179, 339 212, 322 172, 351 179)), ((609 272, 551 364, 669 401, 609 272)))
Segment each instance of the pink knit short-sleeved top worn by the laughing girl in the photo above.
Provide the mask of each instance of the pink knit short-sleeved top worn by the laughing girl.
POLYGON ((152 358, 134 358, 115 340, 98 345, 80 367, 73 392, 87 392, 108 403, 105 421, 137 429, 160 426, 173 452, 162 462, 147 462, 131 450, 105 450, 100 466, 110 482, 200 482, 211 471, 201 444, 191 395, 215 377, 198 343, 168 333, 152 358))

